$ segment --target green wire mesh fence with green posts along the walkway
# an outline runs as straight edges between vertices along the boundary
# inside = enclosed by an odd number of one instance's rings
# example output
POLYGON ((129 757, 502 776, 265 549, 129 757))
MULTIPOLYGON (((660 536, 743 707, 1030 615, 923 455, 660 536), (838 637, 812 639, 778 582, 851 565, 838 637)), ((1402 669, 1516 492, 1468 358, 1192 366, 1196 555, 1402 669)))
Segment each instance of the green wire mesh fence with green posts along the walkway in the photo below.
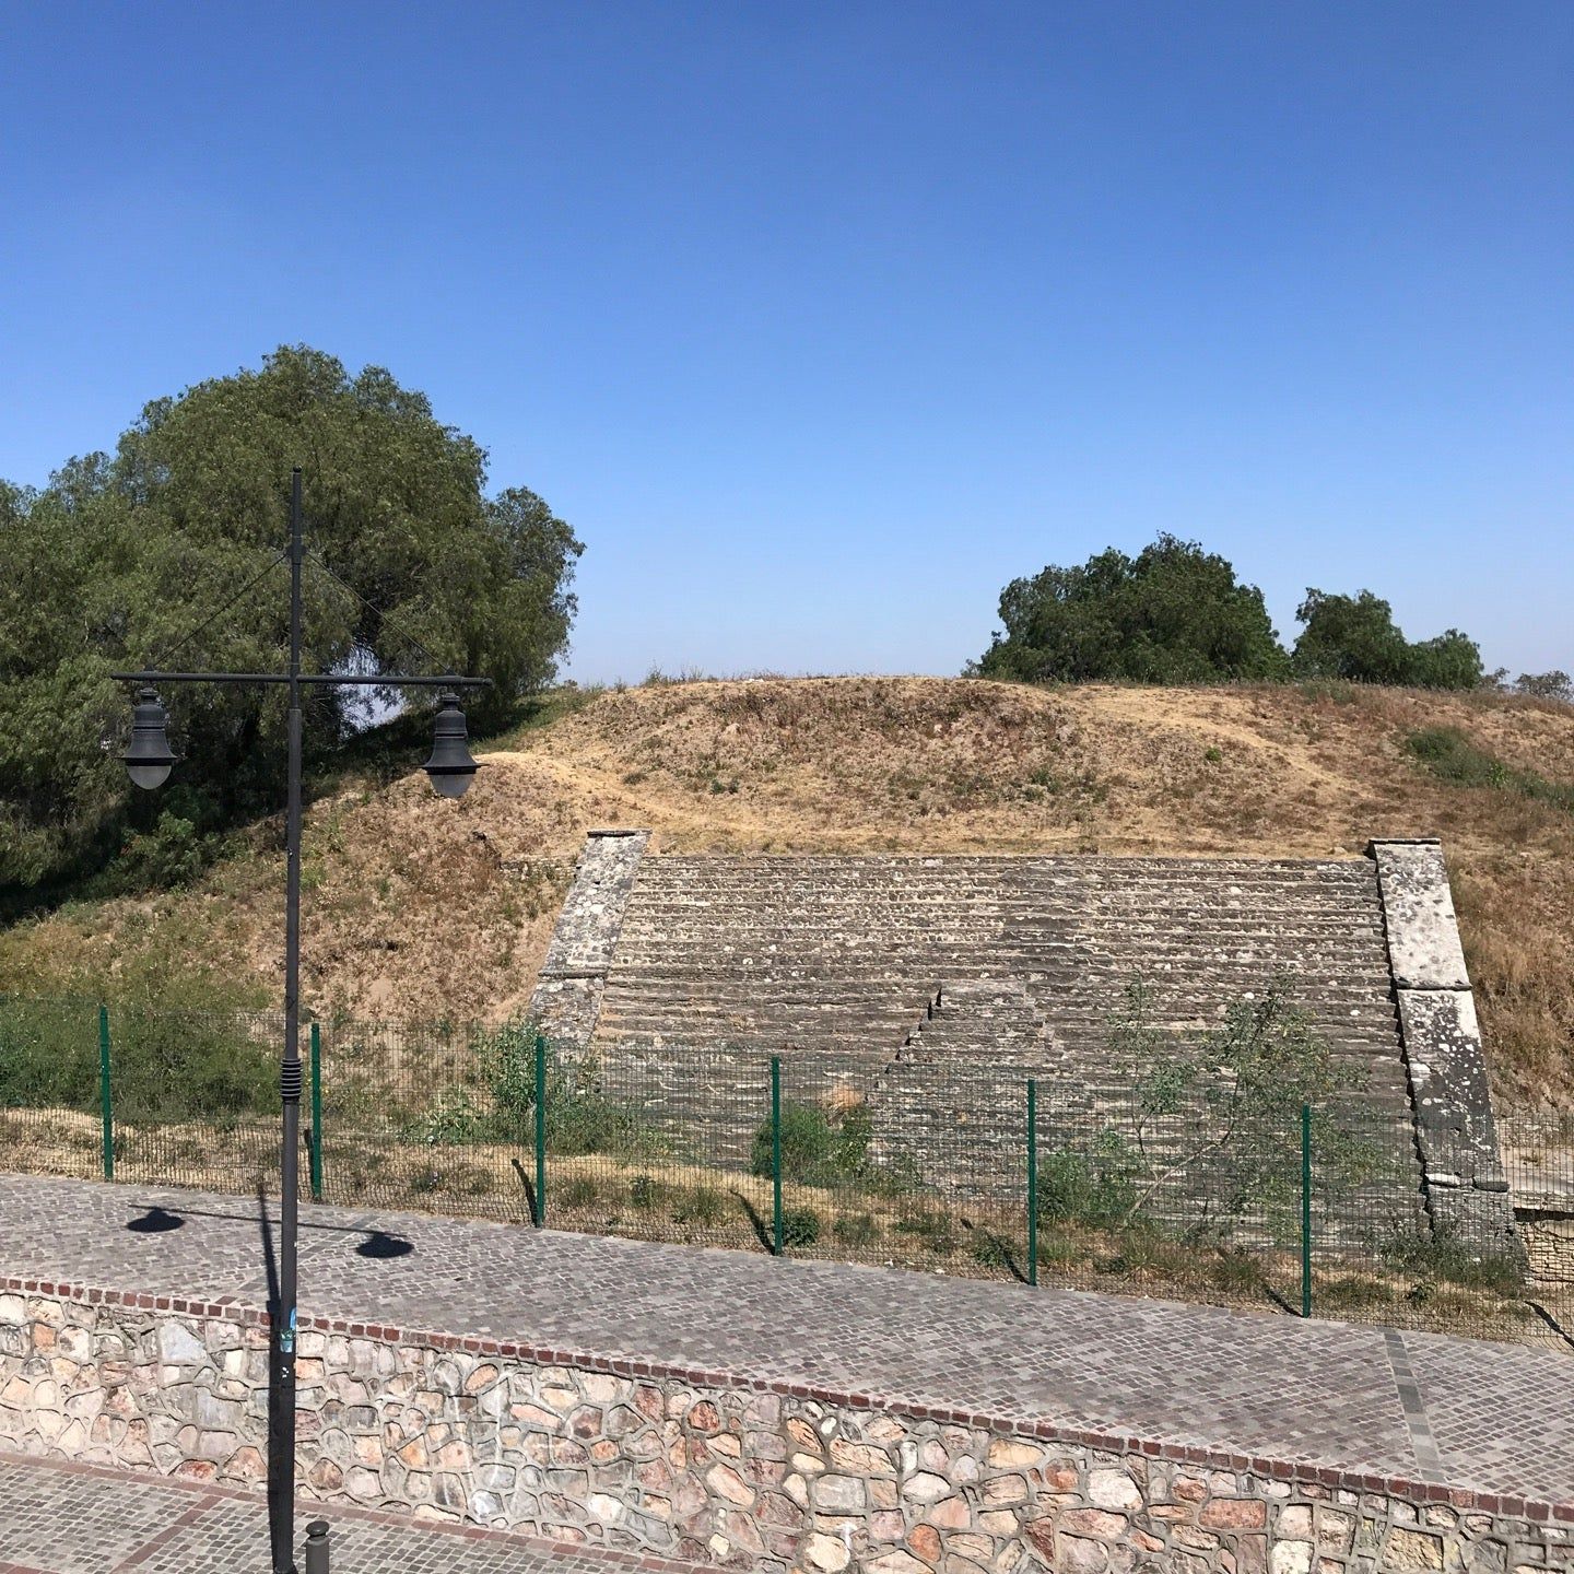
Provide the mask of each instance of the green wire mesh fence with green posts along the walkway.
MULTIPOLYGON (((0 996, 0 1163, 268 1185, 282 1033, 0 996)), ((1155 1108, 1132 1080, 1009 1067, 592 1058, 527 1023, 313 1022, 305 1048, 318 1201, 1574 1349, 1569 1116, 1498 1121, 1516 1223, 1494 1239, 1442 1223, 1412 1122, 1355 1097, 1155 1108)))

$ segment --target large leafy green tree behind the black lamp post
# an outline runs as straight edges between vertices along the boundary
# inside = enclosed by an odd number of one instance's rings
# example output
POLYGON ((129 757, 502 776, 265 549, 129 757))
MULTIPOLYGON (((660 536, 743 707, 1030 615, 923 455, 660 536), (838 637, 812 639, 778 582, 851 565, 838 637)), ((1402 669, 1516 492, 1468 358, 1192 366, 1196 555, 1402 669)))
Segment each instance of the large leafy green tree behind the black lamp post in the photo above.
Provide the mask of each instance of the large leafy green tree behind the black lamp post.
MULTIPOLYGON (((496 683, 472 707, 483 722, 551 682, 582 551, 570 527, 523 488, 488 496, 485 452, 382 368, 282 348, 154 400, 113 455, 71 460, 42 491, 0 483, 0 888, 69 870, 151 812, 127 809, 102 746, 126 705, 110 669, 282 669, 288 581, 269 563, 296 464, 310 669, 480 674, 496 683)), ((222 818, 277 792, 280 689, 164 699, 179 812, 222 818)), ((365 715, 364 691, 310 702, 318 746, 365 715)))

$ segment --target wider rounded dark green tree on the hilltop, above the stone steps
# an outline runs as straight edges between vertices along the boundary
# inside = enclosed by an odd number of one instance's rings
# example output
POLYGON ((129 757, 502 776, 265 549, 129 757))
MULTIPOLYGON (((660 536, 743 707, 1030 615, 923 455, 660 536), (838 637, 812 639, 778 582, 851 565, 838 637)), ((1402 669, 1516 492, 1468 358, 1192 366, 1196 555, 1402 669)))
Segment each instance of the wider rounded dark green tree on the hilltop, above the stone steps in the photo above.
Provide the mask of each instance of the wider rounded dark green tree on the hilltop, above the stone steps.
POLYGON ((1262 592, 1196 541, 1160 535, 1136 557, 1114 548, 1073 568, 1047 567, 1001 592, 996 634, 970 667, 981 677, 1207 683, 1286 671, 1262 592))

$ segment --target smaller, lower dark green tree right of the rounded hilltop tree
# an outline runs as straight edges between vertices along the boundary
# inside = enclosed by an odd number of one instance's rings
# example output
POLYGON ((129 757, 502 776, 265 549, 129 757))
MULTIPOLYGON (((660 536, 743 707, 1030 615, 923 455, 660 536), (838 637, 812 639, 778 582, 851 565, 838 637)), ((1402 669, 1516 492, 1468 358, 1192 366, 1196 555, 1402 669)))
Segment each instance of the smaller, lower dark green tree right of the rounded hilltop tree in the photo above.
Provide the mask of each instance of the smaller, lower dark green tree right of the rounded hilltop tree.
POLYGON ((1473 639, 1450 628, 1410 644, 1393 608, 1371 590, 1354 597, 1308 590, 1295 617, 1305 625, 1291 658, 1300 677, 1445 689, 1478 688, 1486 680, 1473 639))

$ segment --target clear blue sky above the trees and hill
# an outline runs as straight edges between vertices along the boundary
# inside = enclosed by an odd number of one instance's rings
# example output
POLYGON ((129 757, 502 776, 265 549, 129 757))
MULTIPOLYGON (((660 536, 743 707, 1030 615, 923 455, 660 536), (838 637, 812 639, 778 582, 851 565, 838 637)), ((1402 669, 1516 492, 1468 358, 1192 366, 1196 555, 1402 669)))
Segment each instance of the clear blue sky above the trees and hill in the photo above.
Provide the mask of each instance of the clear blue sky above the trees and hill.
POLYGON ((1574 3, 0 0, 0 475, 304 340, 571 671, 954 672, 1158 529, 1574 669, 1574 3))

